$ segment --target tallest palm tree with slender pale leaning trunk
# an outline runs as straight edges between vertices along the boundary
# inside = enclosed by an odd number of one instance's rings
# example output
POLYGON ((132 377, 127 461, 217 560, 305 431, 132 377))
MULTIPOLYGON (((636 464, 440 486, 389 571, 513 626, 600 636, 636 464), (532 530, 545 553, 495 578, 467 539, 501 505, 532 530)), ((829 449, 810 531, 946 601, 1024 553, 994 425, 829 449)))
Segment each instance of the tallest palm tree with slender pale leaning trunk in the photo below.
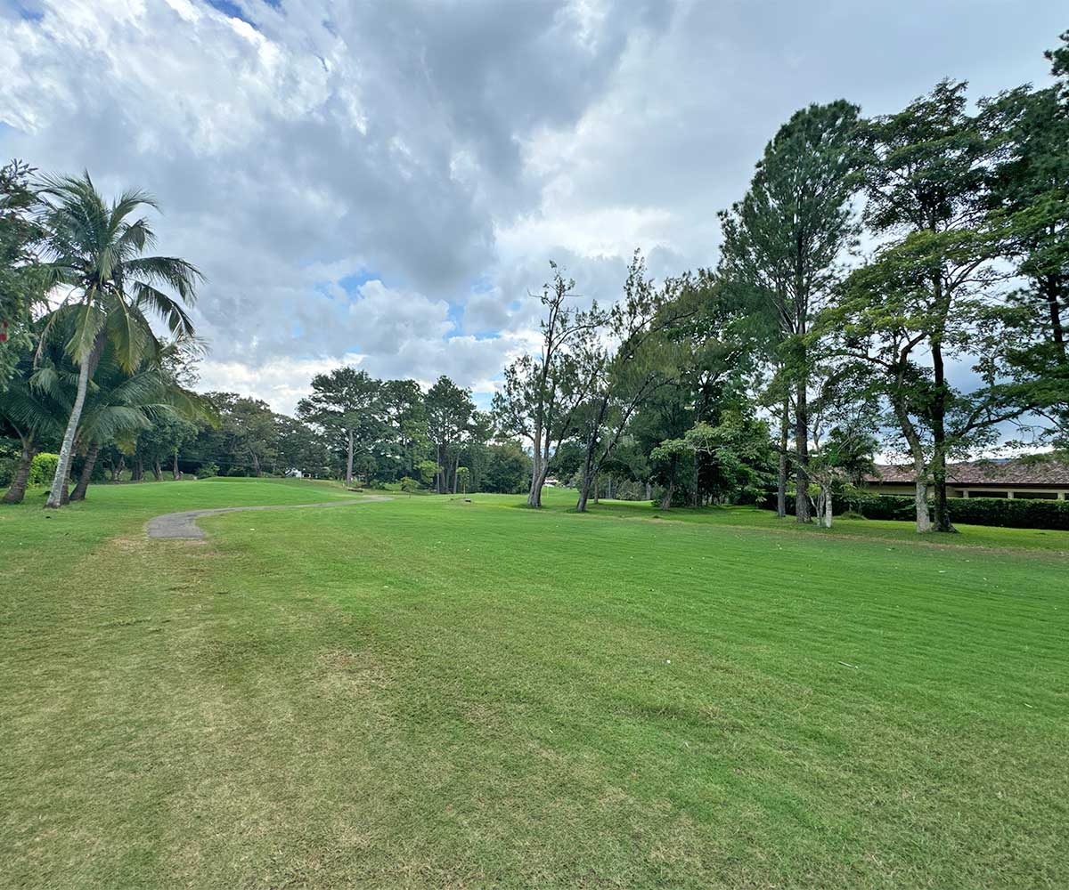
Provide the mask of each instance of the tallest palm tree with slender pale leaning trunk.
POLYGON ((203 276, 185 260, 141 255, 156 237, 143 217, 133 217, 141 207, 158 209, 143 191, 123 192, 109 205, 87 172, 81 177, 46 178, 38 194, 45 268, 52 284, 69 287, 52 316, 73 325, 65 349, 78 366, 74 405, 45 502, 46 508, 57 509, 66 491, 86 393, 105 342, 111 343, 127 373, 145 361, 157 361, 160 347, 145 313, 161 317, 176 337, 191 335, 183 302, 195 301, 203 276), (179 300, 161 286, 174 291, 179 300))

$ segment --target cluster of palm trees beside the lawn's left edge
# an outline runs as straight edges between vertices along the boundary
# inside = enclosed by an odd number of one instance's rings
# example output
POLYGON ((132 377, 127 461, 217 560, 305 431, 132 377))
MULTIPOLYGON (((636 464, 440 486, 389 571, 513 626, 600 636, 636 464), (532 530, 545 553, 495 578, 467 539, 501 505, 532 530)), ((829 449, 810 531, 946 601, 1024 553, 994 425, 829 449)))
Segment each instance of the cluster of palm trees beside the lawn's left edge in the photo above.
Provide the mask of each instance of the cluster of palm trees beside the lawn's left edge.
POLYGON ((84 498, 103 444, 131 443, 165 412, 192 419, 207 410, 168 360, 196 343, 186 307, 203 277, 185 260, 146 255, 156 237, 141 214, 158 207, 143 191, 109 203, 86 173, 44 178, 35 192, 41 303, 24 323, 15 372, 0 391, 0 421, 21 442, 3 500, 22 500, 42 442, 60 440, 45 501, 55 510, 84 498), (157 337, 150 316, 169 338, 157 337), (72 491, 76 454, 84 459, 72 491))

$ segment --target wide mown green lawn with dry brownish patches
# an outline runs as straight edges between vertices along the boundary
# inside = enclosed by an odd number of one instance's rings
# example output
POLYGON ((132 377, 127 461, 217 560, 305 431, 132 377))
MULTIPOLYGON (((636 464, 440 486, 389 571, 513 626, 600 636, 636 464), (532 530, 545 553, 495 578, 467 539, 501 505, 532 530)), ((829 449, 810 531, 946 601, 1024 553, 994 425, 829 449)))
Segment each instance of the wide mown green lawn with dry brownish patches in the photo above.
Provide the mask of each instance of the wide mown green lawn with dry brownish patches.
MULTIPOLYGON (((325 490, 218 485, 155 488, 325 490)), ((1069 886, 1067 564, 1035 538, 553 493, 146 542, 168 498, 91 496, 24 527, 68 562, 6 555, 15 886, 1069 886)))

